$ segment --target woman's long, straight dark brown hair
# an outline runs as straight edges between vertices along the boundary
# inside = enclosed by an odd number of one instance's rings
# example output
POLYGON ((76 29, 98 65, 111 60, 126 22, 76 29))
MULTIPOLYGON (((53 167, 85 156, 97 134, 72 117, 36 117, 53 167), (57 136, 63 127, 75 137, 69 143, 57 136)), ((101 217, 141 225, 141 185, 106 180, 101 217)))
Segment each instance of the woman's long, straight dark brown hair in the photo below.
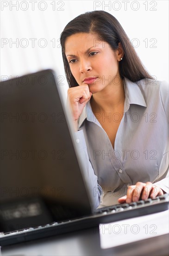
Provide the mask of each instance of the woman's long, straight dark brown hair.
POLYGON ((61 34, 63 63, 69 87, 78 86, 78 83, 71 74, 65 55, 65 41, 70 35, 76 33, 97 33, 99 38, 107 42, 113 50, 118 49, 120 42, 124 50, 123 60, 119 61, 119 74, 122 79, 126 77, 132 82, 143 78, 153 79, 144 68, 119 21, 105 11, 93 11, 71 20, 61 34))

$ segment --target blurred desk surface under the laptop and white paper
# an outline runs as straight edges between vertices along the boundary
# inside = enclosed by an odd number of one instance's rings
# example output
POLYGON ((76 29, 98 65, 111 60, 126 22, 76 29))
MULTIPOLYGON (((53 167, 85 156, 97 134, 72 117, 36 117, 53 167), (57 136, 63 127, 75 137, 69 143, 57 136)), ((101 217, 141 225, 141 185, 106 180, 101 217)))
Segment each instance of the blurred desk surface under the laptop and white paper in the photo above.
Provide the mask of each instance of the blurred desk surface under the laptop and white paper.
POLYGON ((1 248, 1 256, 168 256, 169 234, 101 249, 98 229, 48 237, 1 248))

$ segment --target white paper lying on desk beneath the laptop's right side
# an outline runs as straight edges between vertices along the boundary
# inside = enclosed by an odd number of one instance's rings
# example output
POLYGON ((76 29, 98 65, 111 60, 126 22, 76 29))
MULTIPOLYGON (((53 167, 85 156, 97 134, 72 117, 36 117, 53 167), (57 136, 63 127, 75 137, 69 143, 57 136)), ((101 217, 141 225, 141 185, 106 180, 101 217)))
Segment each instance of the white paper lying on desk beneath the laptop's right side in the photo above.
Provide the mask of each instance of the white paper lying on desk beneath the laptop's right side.
POLYGON ((169 210, 100 224, 100 246, 107 249, 169 233, 169 210))

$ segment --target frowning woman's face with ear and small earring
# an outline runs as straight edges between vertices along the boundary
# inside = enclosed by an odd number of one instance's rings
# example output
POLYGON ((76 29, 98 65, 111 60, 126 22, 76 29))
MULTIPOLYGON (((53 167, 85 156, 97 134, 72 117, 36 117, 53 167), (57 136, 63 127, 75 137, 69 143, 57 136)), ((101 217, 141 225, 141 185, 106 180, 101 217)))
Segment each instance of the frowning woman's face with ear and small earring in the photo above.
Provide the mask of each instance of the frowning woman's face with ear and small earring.
POLYGON ((119 84, 121 49, 113 51, 97 34, 69 36, 65 42, 65 54, 77 83, 88 84, 92 94, 119 84))

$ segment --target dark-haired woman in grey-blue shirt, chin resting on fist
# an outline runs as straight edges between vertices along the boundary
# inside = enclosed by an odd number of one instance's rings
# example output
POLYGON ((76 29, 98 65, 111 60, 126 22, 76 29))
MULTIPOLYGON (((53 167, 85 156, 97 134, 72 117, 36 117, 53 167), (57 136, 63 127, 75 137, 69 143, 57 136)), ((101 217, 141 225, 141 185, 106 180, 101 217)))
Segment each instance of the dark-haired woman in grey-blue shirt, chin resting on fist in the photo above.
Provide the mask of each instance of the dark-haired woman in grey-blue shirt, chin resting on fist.
POLYGON ((94 205, 169 192, 169 97, 110 13, 93 11, 61 34, 68 100, 94 205))

